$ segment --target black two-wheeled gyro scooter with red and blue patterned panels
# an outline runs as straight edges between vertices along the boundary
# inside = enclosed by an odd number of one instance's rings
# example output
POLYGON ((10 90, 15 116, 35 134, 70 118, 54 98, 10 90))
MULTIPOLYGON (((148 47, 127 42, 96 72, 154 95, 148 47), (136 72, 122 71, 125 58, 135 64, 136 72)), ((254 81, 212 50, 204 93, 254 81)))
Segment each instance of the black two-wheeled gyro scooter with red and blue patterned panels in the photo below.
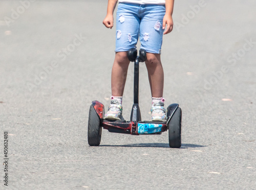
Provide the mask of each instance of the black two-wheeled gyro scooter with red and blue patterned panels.
POLYGON ((141 121, 139 108, 139 62, 146 60, 146 51, 140 49, 137 56, 137 49, 132 48, 127 52, 131 62, 134 62, 134 104, 130 121, 104 120, 104 105, 99 101, 93 101, 90 106, 88 120, 88 143, 90 146, 99 146, 102 128, 109 132, 126 134, 161 134, 169 130, 169 146, 171 148, 181 147, 181 108, 179 104, 170 104, 166 110, 166 121, 141 121))

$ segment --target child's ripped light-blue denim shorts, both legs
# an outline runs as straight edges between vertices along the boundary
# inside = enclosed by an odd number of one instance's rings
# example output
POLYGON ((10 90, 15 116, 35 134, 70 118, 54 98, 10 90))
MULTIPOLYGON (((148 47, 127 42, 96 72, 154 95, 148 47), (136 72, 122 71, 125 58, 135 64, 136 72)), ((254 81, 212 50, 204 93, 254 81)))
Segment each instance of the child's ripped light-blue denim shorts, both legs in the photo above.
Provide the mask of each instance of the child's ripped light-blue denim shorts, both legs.
POLYGON ((116 16, 116 52, 141 48, 161 54, 165 5, 119 3, 116 16))

